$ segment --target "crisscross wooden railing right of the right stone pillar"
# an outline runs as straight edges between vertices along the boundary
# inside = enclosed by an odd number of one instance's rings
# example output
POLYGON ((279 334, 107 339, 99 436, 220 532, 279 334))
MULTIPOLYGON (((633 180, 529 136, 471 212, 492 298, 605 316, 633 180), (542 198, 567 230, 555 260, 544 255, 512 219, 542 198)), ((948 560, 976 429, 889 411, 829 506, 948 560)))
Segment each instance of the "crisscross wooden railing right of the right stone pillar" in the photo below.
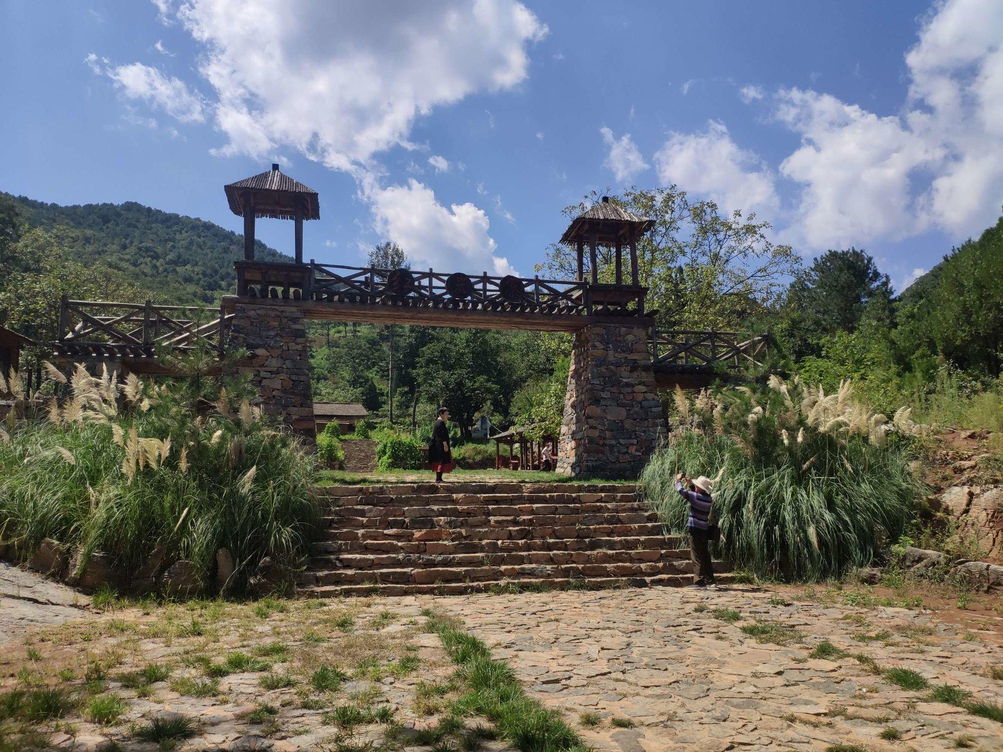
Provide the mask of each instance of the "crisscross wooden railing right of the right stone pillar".
POLYGON ((761 365, 769 346, 769 335, 739 332, 696 332, 685 329, 653 329, 651 358, 655 366, 761 365))

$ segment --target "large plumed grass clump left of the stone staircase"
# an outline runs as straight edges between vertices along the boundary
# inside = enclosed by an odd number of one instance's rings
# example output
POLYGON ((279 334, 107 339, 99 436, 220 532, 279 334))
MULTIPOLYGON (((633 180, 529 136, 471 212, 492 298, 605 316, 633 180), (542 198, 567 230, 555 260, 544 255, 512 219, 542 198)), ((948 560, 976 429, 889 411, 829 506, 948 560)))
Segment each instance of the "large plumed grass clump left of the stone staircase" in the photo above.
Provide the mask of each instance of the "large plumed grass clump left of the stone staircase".
POLYGON ((24 555, 49 537, 79 549, 81 567, 101 551, 128 573, 162 544, 208 582, 227 548, 226 590, 240 592, 264 556, 306 554, 314 461, 247 400, 220 389, 206 409, 204 387, 193 397, 184 381, 47 371, 67 396, 0 435, 0 536, 24 555))

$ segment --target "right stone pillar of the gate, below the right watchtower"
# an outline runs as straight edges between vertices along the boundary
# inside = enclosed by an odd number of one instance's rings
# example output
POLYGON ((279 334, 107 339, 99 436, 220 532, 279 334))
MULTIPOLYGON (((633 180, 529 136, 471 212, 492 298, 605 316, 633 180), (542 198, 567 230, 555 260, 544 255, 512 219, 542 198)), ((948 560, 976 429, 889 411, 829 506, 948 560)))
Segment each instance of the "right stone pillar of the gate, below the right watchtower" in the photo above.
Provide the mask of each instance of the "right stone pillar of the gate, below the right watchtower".
POLYGON ((648 330, 592 324, 576 332, 557 471, 636 477, 666 430, 648 330))

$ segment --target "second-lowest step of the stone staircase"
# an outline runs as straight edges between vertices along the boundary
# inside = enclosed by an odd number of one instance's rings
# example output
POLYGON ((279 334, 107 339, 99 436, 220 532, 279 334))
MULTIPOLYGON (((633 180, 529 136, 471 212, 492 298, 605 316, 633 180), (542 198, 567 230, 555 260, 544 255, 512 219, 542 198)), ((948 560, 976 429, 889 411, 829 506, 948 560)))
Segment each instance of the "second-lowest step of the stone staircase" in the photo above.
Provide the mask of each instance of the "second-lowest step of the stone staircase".
POLYGON ((306 586, 326 585, 433 585, 436 583, 500 582, 503 580, 585 580, 592 578, 648 578, 659 575, 690 575, 689 558, 659 561, 624 561, 585 565, 514 565, 480 567, 400 567, 379 570, 321 570, 300 575, 306 586))

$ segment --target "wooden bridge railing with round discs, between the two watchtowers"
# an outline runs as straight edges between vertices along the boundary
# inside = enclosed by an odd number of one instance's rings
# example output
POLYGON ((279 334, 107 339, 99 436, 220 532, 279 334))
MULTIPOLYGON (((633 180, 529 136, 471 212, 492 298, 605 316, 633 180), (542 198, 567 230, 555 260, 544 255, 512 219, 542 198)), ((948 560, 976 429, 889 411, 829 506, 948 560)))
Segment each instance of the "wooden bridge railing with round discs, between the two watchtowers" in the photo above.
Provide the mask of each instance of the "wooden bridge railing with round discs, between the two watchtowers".
POLYGON ((236 267, 237 294, 250 298, 577 315, 637 316, 644 306, 644 288, 585 281, 344 267, 313 260, 303 265, 242 261, 236 267))

